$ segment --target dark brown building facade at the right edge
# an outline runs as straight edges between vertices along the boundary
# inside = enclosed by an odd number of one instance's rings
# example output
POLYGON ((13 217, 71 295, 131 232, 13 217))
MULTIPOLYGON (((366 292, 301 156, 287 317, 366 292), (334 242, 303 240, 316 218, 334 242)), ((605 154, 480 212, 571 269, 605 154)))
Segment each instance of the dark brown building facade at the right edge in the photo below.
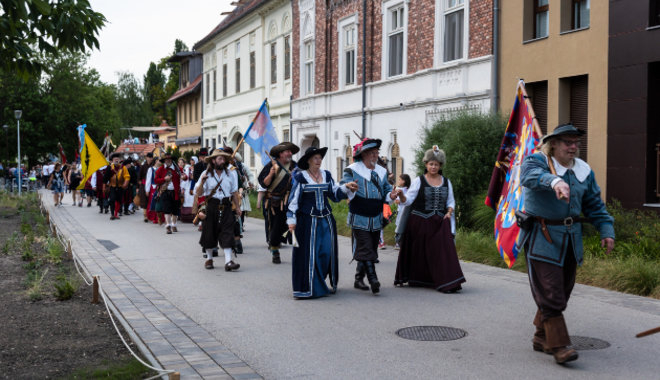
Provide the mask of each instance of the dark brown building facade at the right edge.
POLYGON ((658 210, 660 1, 609 3, 607 196, 658 210))

